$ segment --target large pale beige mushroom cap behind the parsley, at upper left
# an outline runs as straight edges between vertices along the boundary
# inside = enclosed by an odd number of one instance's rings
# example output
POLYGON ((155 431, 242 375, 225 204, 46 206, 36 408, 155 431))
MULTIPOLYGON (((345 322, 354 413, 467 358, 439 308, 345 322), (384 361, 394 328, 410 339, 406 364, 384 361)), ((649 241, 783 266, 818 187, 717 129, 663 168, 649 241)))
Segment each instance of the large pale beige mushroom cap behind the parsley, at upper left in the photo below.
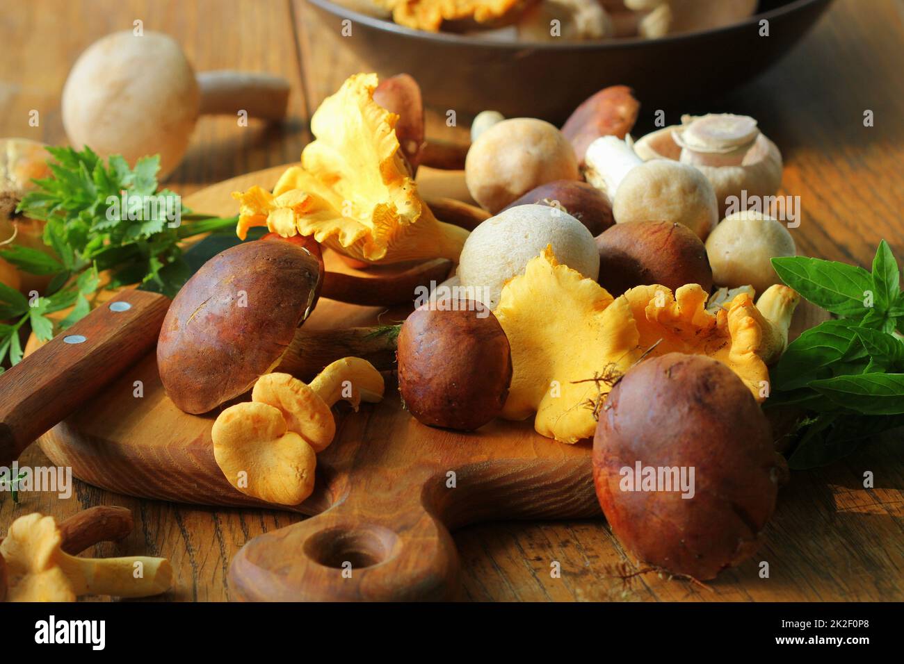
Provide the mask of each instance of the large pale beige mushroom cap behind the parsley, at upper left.
POLYGON ((160 178, 182 159, 198 117, 200 92, 191 64, 169 35, 131 30, 91 44, 62 90, 70 143, 135 164, 160 154, 160 178))

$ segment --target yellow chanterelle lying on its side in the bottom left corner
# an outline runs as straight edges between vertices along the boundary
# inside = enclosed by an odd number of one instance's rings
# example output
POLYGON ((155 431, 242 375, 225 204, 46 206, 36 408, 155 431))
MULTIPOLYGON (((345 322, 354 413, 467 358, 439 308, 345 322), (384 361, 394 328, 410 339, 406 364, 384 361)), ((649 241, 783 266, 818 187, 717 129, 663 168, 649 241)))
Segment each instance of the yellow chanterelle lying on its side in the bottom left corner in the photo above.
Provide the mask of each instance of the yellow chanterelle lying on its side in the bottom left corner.
POLYGON ((7 601, 74 602, 86 594, 149 597, 172 585, 173 569, 165 558, 82 558, 64 553, 61 543, 52 517, 34 513, 14 520, 0 543, 7 601))

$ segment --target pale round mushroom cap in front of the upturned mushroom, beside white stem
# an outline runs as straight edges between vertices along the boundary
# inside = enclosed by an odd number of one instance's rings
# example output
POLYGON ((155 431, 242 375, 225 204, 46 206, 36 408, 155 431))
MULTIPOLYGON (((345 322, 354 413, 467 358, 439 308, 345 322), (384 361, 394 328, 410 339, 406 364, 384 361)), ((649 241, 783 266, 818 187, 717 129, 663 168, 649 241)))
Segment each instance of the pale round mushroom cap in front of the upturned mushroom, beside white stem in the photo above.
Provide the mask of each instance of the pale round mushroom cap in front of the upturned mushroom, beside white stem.
POLYGON ((673 221, 706 239, 719 222, 716 194, 694 166, 655 159, 632 168, 618 185, 612 213, 625 221, 673 221))

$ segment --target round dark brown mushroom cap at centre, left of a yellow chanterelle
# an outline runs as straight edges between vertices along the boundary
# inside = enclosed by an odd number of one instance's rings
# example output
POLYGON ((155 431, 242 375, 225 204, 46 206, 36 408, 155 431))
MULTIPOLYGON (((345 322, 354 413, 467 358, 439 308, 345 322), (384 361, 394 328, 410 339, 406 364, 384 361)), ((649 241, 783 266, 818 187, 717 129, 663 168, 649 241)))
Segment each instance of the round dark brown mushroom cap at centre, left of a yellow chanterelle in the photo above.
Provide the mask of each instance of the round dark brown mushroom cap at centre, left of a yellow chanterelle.
POLYGON ((399 393, 419 422, 459 431, 502 411, 512 354, 493 313, 473 300, 420 306, 399 332, 399 393))

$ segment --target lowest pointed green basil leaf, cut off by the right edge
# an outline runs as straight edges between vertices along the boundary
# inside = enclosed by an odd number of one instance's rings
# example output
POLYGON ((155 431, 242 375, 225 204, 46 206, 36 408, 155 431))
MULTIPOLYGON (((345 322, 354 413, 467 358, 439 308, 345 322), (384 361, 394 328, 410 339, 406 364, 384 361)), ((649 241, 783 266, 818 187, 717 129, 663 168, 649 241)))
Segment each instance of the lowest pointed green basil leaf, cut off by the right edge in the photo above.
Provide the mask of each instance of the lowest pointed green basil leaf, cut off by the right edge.
POLYGON ((904 373, 864 373, 810 383, 838 406, 862 415, 904 414, 904 373))

